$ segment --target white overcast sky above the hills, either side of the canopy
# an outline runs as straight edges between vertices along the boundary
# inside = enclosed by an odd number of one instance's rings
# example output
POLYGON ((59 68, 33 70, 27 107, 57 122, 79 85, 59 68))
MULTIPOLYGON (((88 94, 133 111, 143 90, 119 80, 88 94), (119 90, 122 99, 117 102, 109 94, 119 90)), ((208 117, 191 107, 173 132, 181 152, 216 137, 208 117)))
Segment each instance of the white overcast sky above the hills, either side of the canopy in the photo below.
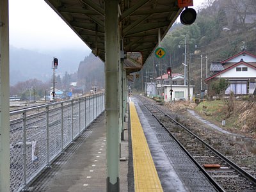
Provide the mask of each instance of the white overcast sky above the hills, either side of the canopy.
MULTIPOLYGON (((205 0, 194 0, 198 6, 205 0)), ((9 0, 10 45, 40 52, 79 49, 84 42, 44 0, 9 0)))

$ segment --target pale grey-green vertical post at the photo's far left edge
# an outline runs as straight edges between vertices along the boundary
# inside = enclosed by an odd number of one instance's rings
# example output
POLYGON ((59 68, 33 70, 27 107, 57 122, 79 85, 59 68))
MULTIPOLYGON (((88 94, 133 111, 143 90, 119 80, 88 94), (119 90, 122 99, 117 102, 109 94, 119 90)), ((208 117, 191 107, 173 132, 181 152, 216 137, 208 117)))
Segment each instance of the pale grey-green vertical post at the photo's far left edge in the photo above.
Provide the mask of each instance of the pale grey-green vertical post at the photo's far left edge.
POLYGON ((0 191, 10 191, 10 80, 8 0, 0 1, 0 191))

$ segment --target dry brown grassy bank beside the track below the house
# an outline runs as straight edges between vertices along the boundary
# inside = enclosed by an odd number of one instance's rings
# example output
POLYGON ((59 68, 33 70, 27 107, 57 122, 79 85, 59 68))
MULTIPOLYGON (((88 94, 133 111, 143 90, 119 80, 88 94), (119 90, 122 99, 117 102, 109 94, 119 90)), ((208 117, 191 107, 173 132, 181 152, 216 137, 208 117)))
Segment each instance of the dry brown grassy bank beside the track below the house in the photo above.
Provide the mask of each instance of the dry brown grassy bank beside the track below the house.
MULTIPOLYGON (((227 131, 248 136, 256 139, 256 103, 252 101, 234 100, 234 110, 228 111, 228 106, 218 106, 216 111, 213 111, 210 115, 199 111, 197 106, 193 102, 176 101, 172 105, 170 103, 164 104, 166 107, 175 111, 176 113, 182 113, 183 115, 191 116, 186 109, 193 109, 205 120, 209 120, 212 124, 226 129, 227 131), (221 126, 220 118, 225 119, 229 126, 221 126)), ((204 104, 203 108, 205 107, 204 104)), ((206 107, 205 107, 206 108, 206 107)))

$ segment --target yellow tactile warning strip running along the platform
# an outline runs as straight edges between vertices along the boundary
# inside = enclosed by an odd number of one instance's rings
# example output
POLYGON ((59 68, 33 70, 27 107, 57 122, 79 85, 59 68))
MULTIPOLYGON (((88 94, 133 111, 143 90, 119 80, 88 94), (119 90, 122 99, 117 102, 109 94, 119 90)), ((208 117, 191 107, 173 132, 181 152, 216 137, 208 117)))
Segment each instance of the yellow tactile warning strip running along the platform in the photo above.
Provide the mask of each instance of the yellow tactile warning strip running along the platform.
POLYGON ((133 102, 130 102, 135 191, 163 191, 133 102))

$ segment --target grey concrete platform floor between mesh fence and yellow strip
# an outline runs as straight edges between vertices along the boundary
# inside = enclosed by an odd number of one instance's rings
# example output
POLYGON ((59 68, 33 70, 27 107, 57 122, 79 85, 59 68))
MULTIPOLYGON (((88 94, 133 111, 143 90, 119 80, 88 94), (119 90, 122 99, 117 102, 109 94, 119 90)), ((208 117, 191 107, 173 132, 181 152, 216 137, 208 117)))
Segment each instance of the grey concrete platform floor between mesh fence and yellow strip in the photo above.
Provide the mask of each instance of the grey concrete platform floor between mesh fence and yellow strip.
MULTIPOLYGON (((122 141, 128 159, 128 140, 122 141)), ((128 191, 128 160, 120 162, 120 191, 128 191)), ((106 118, 102 114, 47 168, 29 191, 106 191, 106 118)))

